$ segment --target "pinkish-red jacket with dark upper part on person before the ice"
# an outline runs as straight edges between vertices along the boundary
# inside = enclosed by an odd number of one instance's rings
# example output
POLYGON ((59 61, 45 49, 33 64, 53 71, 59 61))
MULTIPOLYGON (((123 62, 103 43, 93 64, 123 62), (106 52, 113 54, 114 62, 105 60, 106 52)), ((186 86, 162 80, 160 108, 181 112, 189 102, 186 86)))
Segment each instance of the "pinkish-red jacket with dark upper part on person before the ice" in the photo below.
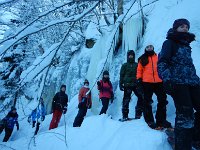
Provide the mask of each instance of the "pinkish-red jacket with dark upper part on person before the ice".
POLYGON ((101 85, 97 86, 97 89, 99 90, 99 98, 111 98, 111 95, 113 94, 113 87, 112 83, 109 82, 103 82, 103 80, 100 80, 101 85))

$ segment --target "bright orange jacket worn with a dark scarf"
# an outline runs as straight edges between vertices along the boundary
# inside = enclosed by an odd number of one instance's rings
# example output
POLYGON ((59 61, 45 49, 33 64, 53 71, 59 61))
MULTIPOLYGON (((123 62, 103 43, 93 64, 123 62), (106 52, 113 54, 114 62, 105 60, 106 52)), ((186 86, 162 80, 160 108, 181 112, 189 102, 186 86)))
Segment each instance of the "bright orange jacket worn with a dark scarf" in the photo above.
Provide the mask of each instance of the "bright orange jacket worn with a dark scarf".
POLYGON ((157 62, 158 56, 154 54, 153 56, 148 56, 149 63, 146 66, 142 66, 139 61, 137 67, 137 79, 141 78, 143 82, 148 83, 158 83, 162 80, 158 76, 157 62))

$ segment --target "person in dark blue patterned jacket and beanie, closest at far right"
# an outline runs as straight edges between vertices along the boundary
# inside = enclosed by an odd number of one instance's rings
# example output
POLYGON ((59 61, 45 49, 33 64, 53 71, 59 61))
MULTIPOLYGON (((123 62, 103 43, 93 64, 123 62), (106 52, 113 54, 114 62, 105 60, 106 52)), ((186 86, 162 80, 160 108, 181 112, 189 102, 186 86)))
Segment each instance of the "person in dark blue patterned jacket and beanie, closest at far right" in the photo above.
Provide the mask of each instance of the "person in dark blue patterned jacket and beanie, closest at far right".
POLYGON ((195 35, 189 28, 187 19, 174 21, 158 60, 159 76, 176 107, 176 150, 191 150, 193 136, 193 141, 200 141, 200 79, 191 57, 190 43, 195 35))

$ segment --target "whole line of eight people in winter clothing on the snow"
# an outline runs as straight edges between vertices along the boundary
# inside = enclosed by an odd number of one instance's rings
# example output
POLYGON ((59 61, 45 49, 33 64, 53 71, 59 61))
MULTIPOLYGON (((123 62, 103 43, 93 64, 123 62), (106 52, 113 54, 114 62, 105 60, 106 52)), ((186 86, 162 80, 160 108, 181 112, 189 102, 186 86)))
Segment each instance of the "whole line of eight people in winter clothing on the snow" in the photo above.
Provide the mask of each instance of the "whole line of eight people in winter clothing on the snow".
MULTIPOLYGON (((195 35, 190 33, 189 29, 190 23, 187 19, 175 20, 167 33, 166 41, 164 41, 159 55, 154 51, 153 45, 147 45, 137 63, 134 51, 129 50, 127 62, 122 65, 120 70, 119 88, 124 92, 122 101, 122 120, 124 121, 130 119, 128 116, 129 103, 131 94, 134 92, 137 97, 136 119, 140 119, 143 114, 145 122, 153 129, 172 127, 166 119, 167 94, 171 95, 176 108, 174 130, 176 150, 191 150, 193 143, 200 142, 200 78, 196 74, 191 57, 190 43, 195 40, 195 35), (153 94, 157 96, 156 121, 152 112, 153 94)), ((97 89, 102 102, 99 115, 106 114, 109 102, 112 103, 114 100, 113 87, 107 70, 103 72, 102 80, 97 82, 97 89)), ((65 91, 66 86, 62 85, 60 91, 53 98, 53 117, 49 130, 56 128, 62 114, 67 112, 68 96, 65 91)), ((78 102, 79 111, 73 127, 81 126, 87 109, 92 107, 91 90, 87 79, 79 91, 78 102)), ((33 127, 37 119, 35 134, 39 130, 39 118, 42 116, 41 120, 43 121, 45 117, 42 106, 44 105, 41 103, 41 107, 36 108, 28 119, 29 122, 32 120, 33 127)), ((16 108, 12 107, 3 119, 3 125, 0 124, 0 133, 4 128, 6 131, 4 142, 9 139, 14 124, 19 129, 17 118, 16 108), (9 123, 5 126, 5 122, 9 123)))

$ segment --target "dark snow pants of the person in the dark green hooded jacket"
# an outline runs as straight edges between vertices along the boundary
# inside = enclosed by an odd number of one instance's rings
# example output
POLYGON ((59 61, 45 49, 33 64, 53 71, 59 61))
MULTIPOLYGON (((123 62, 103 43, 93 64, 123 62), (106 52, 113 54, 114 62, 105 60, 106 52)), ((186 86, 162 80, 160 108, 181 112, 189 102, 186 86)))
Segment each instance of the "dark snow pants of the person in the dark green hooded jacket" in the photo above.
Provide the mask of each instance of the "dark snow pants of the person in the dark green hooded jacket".
POLYGON ((136 87, 125 87, 124 88, 124 97, 122 102, 122 116, 123 118, 128 118, 129 113, 129 103, 131 100, 131 94, 134 92, 134 94, 137 96, 137 104, 135 106, 135 118, 140 118, 142 116, 143 112, 143 98, 142 95, 138 93, 136 87))

